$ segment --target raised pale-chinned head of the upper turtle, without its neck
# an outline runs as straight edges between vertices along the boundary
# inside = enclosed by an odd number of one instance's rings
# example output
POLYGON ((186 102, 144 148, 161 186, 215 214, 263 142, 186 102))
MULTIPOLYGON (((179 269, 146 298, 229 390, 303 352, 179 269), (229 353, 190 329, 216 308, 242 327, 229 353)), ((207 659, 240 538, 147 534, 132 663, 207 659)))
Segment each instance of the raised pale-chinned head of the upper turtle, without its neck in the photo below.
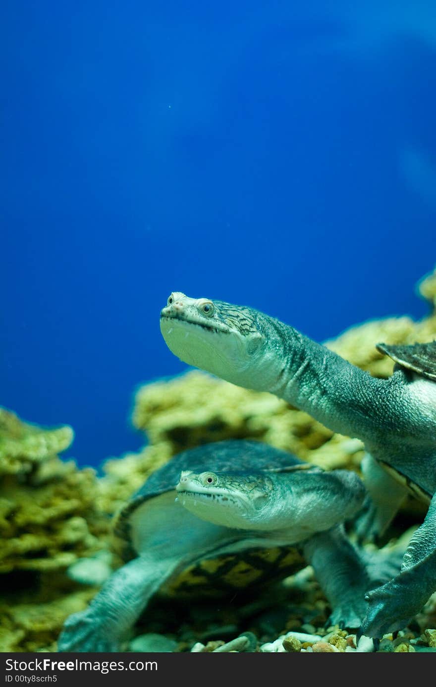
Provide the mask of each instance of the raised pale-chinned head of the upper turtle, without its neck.
POLYGON ((161 311, 161 333, 184 363, 233 384, 263 388, 262 375, 253 375, 265 360, 261 319, 252 308, 174 291, 161 311))

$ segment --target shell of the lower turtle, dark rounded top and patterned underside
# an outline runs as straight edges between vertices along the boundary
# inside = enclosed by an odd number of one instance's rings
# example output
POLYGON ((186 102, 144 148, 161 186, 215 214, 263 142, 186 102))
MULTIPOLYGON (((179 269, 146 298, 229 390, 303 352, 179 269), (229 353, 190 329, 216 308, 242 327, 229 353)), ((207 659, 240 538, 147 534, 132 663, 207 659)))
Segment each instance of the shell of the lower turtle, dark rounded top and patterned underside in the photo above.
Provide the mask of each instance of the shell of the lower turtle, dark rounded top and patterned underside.
MULTIPOLYGON (((291 453, 268 444, 246 440, 227 440, 204 444, 175 455, 152 473, 130 501, 119 511, 114 526, 119 554, 125 561, 137 556, 131 545, 130 515, 148 499, 175 491, 182 470, 234 474, 319 470, 291 453)), ((283 579, 307 565, 293 546, 253 549, 219 558, 204 559, 190 565, 159 590, 166 596, 226 596, 236 590, 253 590, 267 582, 283 579)))

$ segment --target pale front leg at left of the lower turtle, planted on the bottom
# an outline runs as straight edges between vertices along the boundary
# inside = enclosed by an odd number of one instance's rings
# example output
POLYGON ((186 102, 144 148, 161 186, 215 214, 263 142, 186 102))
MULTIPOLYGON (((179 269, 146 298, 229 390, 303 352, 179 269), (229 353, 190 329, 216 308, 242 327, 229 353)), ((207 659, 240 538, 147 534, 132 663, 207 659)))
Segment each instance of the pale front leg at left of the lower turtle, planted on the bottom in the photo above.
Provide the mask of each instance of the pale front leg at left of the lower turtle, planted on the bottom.
POLYGON ((129 630, 174 565, 174 561, 151 556, 139 556, 123 565, 87 609, 67 618, 58 651, 122 651, 129 630))

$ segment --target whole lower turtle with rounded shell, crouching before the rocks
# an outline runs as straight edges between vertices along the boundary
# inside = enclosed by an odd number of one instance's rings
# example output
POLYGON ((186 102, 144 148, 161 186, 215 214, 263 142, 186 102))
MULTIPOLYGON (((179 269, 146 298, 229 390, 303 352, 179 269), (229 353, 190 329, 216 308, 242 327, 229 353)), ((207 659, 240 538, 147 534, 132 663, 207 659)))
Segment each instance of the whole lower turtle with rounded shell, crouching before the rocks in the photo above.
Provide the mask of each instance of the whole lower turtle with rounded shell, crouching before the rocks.
POLYGON ((358 627, 365 592, 388 579, 392 565, 389 557, 370 560, 347 537, 344 523, 364 497, 357 473, 323 471, 258 441, 179 453, 115 517, 125 563, 87 609, 67 618, 58 651, 125 651, 159 589, 255 594, 307 565, 332 608, 329 623, 358 627))

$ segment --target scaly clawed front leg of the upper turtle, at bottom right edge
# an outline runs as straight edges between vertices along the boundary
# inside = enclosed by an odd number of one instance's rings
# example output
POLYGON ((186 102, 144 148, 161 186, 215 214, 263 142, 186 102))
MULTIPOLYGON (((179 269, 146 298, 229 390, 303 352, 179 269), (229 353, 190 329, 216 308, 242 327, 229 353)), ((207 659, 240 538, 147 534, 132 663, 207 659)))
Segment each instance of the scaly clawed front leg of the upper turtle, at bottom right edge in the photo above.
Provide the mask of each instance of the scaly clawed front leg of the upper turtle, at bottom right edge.
POLYGON ((401 572, 366 596, 360 634, 380 638, 406 627, 436 591, 436 495, 422 525, 411 537, 401 572))

